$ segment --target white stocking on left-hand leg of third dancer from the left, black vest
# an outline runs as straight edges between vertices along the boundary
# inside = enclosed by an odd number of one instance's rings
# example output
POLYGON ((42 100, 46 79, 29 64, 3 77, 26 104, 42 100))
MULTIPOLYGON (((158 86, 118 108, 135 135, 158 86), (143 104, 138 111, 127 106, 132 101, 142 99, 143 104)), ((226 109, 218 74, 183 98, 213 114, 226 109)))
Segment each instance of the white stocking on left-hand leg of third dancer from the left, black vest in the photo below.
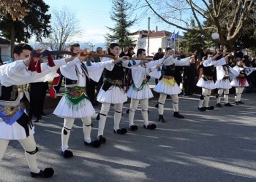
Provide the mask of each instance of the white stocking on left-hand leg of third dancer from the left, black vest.
POLYGON ((103 135, 109 109, 110 103, 102 103, 102 108, 100 109, 99 113, 98 136, 103 135))

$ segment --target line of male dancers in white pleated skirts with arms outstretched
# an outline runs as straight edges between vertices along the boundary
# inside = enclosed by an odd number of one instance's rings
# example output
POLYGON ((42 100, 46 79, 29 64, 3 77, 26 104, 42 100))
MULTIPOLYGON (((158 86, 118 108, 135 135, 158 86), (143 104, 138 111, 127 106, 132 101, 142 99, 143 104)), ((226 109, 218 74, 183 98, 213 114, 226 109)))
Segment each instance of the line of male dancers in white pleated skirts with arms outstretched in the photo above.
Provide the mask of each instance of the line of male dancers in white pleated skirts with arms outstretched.
MULTIPOLYGON (((165 122, 164 104, 167 95, 170 95, 173 102, 173 116, 184 119, 178 109, 178 94, 181 89, 176 84, 175 67, 189 66, 195 63, 195 55, 183 59, 177 59, 179 55, 174 55, 173 50, 167 48, 163 58, 154 61, 146 60, 146 50, 139 49, 136 59, 129 59, 127 56, 118 58, 120 47, 116 43, 110 44, 108 57, 102 58, 101 62, 91 63, 86 61, 87 50, 80 50, 80 45, 72 45, 69 50, 76 52, 77 56, 70 58, 53 60, 53 64, 39 63, 41 57, 37 57, 31 52, 33 49, 28 44, 16 45, 14 51, 15 61, 13 63, 0 66, 0 160, 4 157, 10 140, 18 140, 23 146, 27 162, 31 171, 31 177, 49 178, 54 170, 51 167, 45 170, 37 166, 36 153, 38 151, 34 141, 34 124, 28 116, 24 99, 29 99, 27 84, 33 82, 45 82, 52 80, 56 76, 56 69, 60 68, 61 75, 65 77, 64 96, 59 101, 53 114, 64 118, 64 125, 61 130, 61 155, 64 158, 73 157, 73 152, 69 149, 69 136, 75 119, 83 122, 83 144, 97 148, 106 143, 104 135, 105 123, 110 110, 110 105, 114 105, 113 132, 117 135, 127 133, 126 128, 120 128, 119 124, 122 116, 123 103, 127 97, 131 99, 129 106, 129 130, 138 130, 138 125, 134 122, 135 111, 138 104, 141 106, 143 116, 143 128, 154 130, 156 124, 148 122, 148 99, 153 97, 148 85, 149 76, 162 79, 158 82, 154 91, 159 93, 158 113, 159 122, 165 122), (114 59, 113 59, 114 58, 114 59), (32 62, 32 63, 31 63, 32 62), (30 65, 40 66, 40 71, 29 71, 30 65), (125 92, 123 87, 124 68, 130 69, 132 84, 125 92), (102 103, 97 116, 99 127, 97 139, 91 139, 91 116, 95 113, 94 107, 86 94, 86 80, 92 79, 99 82, 103 73, 104 80, 97 101, 102 103)), ((241 93, 248 84, 244 77, 246 68, 242 66, 241 60, 237 60, 237 66, 230 68, 227 66, 227 58, 217 60, 218 55, 213 58, 203 60, 203 75, 197 83, 203 88, 200 96, 198 109, 200 111, 213 110, 214 106, 209 106, 211 90, 219 88, 217 95, 217 106, 221 107, 220 98, 222 92, 225 93, 225 106, 232 106, 228 102, 228 90, 231 86, 236 87, 236 104, 241 102, 241 93), (214 69, 217 69, 217 82, 214 84, 214 69), (230 76, 236 76, 230 84, 230 76)))

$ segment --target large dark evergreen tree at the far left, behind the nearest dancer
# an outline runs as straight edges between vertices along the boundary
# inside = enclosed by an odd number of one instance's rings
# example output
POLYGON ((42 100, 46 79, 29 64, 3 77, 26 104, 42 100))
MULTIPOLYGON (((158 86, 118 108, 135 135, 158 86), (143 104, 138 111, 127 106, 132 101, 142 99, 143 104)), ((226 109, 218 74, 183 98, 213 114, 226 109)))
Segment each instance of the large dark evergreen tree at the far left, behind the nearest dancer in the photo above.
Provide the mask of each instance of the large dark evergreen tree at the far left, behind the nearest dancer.
POLYGON ((22 1, 21 7, 27 9, 22 19, 13 20, 9 13, 0 15, 1 36, 11 41, 11 49, 15 41, 28 42, 32 35, 40 40, 50 33, 50 15, 46 14, 49 6, 44 1, 22 1))

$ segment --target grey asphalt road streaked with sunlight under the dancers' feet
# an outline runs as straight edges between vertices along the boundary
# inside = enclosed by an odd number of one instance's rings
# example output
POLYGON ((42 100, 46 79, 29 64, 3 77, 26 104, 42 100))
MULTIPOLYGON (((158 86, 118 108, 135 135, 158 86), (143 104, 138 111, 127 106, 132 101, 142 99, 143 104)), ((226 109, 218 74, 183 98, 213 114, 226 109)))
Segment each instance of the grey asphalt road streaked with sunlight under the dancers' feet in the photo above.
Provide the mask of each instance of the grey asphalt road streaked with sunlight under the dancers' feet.
MULTIPOLYGON (((197 111, 197 98, 180 98, 186 119, 173 118, 168 99, 166 123, 155 122, 157 100, 151 100, 149 118, 157 129, 143 129, 137 111, 139 130, 127 135, 113 133, 112 109, 105 128, 108 141, 99 149, 83 145, 82 122, 76 120, 69 139, 72 159, 60 156, 63 119, 49 109, 36 124, 37 157, 39 167, 53 167, 56 174, 37 181, 256 181, 256 94, 244 94, 244 106, 206 112, 197 111)), ((214 97, 211 103, 216 103, 214 97)), ((124 111, 127 107, 129 103, 124 111)), ((93 138, 97 136, 95 116, 93 138)), ((121 126, 128 126, 125 113, 121 126)), ((18 141, 10 142, 0 163, 0 181, 34 181, 18 141)))

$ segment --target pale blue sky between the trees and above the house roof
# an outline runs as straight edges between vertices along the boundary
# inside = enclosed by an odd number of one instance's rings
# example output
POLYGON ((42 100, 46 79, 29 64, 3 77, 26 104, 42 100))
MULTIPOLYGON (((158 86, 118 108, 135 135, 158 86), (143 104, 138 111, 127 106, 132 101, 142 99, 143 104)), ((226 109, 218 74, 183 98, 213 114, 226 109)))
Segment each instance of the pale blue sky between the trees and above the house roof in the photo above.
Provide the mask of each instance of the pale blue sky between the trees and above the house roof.
MULTIPOLYGON (((74 41, 86 41, 92 44, 105 43, 104 35, 108 32, 106 26, 113 28, 116 24, 110 19, 112 4, 110 0, 44 0, 53 8, 65 7, 76 13, 76 17, 82 29, 82 36, 77 37, 74 41)), ((166 23, 159 23, 154 17, 151 17, 151 30, 156 26, 159 31, 171 31, 173 28, 166 23)), ((129 28, 130 32, 148 29, 148 17, 138 20, 138 23, 129 28)))

